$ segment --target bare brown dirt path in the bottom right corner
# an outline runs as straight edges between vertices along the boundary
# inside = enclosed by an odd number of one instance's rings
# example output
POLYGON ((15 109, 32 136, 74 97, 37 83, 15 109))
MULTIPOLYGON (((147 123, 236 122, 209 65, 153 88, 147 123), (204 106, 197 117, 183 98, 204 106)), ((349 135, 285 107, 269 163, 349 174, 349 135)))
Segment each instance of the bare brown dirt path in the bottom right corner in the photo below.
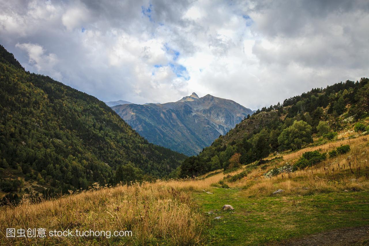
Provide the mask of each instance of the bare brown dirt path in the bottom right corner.
POLYGON ((369 226, 339 228, 271 245, 369 245, 369 226))

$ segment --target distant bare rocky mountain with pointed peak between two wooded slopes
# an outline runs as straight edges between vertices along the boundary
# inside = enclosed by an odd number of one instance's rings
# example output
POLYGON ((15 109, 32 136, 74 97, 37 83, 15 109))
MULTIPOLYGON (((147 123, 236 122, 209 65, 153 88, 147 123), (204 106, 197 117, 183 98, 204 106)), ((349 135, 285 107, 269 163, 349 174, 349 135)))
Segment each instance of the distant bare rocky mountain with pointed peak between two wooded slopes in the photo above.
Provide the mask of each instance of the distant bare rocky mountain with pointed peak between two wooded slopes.
POLYGON ((177 102, 112 107, 149 142, 186 155, 196 155, 227 133, 252 110, 215 96, 192 93, 177 102))

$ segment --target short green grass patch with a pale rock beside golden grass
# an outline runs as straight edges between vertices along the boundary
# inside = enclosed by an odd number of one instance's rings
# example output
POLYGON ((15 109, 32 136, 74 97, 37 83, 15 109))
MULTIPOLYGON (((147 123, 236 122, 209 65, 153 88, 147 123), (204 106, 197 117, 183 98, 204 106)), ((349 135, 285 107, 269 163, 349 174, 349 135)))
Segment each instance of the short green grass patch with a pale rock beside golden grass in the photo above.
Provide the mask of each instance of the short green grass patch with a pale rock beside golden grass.
POLYGON ((240 189, 211 192, 195 195, 203 212, 214 212, 209 215, 208 244, 257 245, 369 224, 366 191, 259 198, 246 197, 240 189), (221 211, 225 204, 235 210, 221 211))

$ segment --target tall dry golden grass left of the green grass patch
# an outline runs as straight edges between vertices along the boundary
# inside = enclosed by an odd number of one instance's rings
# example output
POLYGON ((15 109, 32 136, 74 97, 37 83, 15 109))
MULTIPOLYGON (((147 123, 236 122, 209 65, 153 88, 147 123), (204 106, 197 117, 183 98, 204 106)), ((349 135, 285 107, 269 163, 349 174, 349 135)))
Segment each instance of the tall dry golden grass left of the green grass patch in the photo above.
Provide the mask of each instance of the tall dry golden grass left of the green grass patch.
MULTIPOLYGON (((49 230, 131 230, 129 244, 145 245, 156 240, 175 245, 199 243, 206 219, 190 195, 178 188, 155 184, 100 188, 38 204, 24 202, 0 210, 0 231, 6 228, 46 228, 49 230)), ((6 238, 1 237, 2 243, 6 238)), ((5 240, 5 241, 4 241, 5 240)), ((93 238, 15 239, 11 242, 42 245, 92 245, 93 238)), ((117 238, 99 238, 102 243, 117 243, 117 238)), ((100 243, 101 243, 100 242, 100 243)), ((2 244, 1 243, 1 244, 2 244)), ((96 243, 96 242, 95 242, 96 243)))

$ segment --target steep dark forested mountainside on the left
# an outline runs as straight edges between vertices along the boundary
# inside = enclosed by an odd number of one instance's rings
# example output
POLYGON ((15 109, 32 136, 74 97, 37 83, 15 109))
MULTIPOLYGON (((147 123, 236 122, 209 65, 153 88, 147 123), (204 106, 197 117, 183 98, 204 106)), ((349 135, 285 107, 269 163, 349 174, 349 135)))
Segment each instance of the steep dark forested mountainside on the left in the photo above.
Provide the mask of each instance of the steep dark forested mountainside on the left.
MULTIPOLYGON (((148 143, 97 98, 24 71, 2 46, 0 115, 0 175, 55 192, 165 177, 186 158, 148 143)), ((16 191, 14 184, 2 180, 0 188, 16 191)))

